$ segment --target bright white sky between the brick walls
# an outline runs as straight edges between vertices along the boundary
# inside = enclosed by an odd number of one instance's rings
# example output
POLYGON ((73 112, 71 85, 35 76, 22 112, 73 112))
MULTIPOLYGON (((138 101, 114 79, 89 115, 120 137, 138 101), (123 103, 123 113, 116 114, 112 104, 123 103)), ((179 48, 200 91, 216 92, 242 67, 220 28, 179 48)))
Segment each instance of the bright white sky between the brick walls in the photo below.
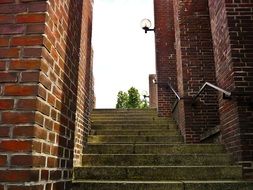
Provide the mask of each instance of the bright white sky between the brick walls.
POLYGON ((140 21, 153 23, 153 17, 153 0, 94 0, 96 108, 115 108, 118 91, 132 86, 148 92, 148 76, 155 73, 154 32, 145 34, 140 21))

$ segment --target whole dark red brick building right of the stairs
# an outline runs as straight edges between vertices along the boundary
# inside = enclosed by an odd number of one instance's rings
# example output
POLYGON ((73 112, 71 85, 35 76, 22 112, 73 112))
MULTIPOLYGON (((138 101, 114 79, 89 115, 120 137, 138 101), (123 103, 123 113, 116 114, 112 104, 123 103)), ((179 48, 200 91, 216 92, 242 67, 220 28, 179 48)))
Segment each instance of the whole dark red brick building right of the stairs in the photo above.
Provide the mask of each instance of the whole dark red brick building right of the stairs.
POLYGON ((154 5, 159 115, 173 114, 185 142, 219 136, 252 179, 253 1, 155 0, 154 5), (205 82, 231 92, 231 98, 208 87, 193 102, 205 82))

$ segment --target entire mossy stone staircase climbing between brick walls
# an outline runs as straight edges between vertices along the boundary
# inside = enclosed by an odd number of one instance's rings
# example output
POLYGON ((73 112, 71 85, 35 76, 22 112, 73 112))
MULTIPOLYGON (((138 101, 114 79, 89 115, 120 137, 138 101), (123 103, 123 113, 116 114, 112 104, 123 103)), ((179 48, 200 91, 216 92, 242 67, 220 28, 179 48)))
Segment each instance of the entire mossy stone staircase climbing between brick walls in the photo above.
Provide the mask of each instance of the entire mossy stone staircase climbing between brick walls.
POLYGON ((94 110, 74 190, 253 190, 222 145, 184 144, 154 109, 94 110))

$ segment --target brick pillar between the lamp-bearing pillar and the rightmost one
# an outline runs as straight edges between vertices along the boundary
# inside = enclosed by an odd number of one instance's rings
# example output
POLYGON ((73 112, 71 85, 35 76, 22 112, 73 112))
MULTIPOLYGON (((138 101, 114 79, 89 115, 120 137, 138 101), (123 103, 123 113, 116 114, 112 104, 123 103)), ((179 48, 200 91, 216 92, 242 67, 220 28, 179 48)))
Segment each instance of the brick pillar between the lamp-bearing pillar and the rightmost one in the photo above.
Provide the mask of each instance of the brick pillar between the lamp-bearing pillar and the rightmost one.
POLYGON ((174 0, 174 10, 178 91, 183 97, 177 117, 185 141, 199 142, 203 131, 219 124, 216 91, 206 89, 192 106, 205 82, 216 84, 208 1, 174 0))

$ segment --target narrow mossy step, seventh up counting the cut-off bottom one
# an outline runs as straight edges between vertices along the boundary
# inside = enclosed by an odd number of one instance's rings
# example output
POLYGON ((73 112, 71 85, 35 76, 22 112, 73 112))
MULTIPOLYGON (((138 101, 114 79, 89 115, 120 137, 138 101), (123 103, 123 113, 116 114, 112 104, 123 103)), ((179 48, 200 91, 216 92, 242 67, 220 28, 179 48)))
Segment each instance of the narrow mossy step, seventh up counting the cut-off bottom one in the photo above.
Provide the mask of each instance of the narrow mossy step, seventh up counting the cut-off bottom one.
POLYGON ((92 124, 91 128, 93 130, 166 130, 174 129, 178 130, 177 126, 174 124, 92 124))

